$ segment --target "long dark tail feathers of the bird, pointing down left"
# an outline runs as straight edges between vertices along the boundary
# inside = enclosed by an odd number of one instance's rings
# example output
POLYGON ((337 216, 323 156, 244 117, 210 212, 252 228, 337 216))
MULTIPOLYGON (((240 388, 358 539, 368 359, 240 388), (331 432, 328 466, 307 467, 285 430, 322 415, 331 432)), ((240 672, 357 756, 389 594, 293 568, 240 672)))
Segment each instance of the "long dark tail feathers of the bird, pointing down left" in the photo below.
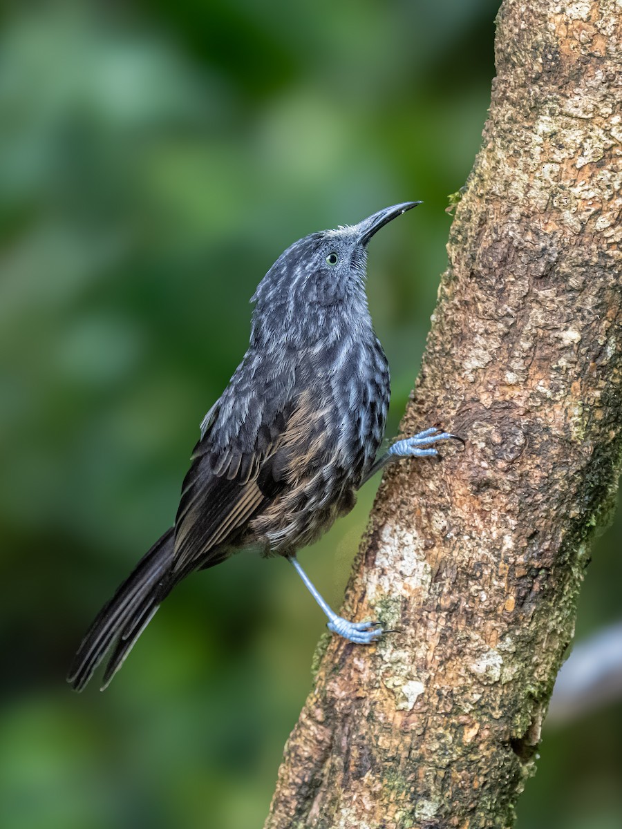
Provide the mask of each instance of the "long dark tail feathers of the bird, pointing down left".
POLYGON ((67 681, 75 691, 82 691, 117 637, 118 641, 104 672, 102 691, 123 664, 134 642, 168 594, 168 572, 173 563, 174 540, 171 527, 143 555, 129 578, 125 579, 112 599, 101 608, 82 640, 67 676, 67 681))

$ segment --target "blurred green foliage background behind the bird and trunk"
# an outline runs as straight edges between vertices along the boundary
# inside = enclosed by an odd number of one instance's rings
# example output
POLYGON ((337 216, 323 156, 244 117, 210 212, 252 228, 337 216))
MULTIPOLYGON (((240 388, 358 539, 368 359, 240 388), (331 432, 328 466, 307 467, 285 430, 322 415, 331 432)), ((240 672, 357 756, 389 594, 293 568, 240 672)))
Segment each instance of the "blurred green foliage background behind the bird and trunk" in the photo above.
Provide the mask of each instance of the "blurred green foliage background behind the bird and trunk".
MULTIPOLYGON (((283 561, 182 584, 105 694, 64 682, 173 520, 198 424, 292 241, 406 199, 369 295, 395 431, 493 77, 497 0, 5 2, 0 825, 260 827, 324 620, 283 561)), ((425 424, 422 424, 425 425, 425 424)), ((338 605, 374 485, 301 559, 338 605)), ((620 612, 622 524, 578 638, 620 612)), ((526 829, 622 825, 622 717, 542 742, 526 829)))

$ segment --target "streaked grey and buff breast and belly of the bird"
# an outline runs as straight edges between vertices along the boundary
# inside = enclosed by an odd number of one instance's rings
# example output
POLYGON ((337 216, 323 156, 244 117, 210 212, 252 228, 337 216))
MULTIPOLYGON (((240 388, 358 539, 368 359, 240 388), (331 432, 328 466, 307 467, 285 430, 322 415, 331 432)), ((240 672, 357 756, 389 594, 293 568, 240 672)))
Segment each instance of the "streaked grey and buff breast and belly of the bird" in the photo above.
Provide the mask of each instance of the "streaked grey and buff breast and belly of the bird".
POLYGON ((313 368, 275 453, 285 486, 252 522, 255 542, 289 555, 352 509, 384 436, 389 394, 379 343, 323 355, 323 371, 313 368))

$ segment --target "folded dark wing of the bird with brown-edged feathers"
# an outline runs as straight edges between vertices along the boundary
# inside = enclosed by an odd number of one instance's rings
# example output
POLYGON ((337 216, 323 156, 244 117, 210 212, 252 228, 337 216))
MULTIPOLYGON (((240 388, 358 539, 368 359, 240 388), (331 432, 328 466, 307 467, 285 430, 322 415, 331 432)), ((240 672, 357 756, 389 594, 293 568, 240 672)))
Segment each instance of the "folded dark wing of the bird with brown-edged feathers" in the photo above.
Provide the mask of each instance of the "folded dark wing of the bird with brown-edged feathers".
POLYGON ((221 418, 227 401, 219 403, 220 410, 209 413, 211 422, 183 482, 175 521, 174 581, 226 558, 226 548, 236 544, 250 518, 285 485, 278 448, 288 424, 297 419, 292 414, 299 410, 299 401, 275 405, 271 399, 270 411, 264 408, 256 417, 249 410, 235 429, 221 418))

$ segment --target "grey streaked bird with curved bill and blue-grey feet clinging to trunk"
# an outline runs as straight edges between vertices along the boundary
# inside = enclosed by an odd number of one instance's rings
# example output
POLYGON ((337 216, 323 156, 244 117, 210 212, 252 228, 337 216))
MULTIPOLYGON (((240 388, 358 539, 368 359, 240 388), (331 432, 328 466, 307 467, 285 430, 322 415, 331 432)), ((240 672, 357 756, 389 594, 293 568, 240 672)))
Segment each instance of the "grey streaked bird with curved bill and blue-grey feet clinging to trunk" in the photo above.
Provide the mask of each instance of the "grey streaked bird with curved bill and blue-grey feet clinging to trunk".
POLYGON ((361 645, 381 637, 377 621, 338 616, 296 553, 352 510, 357 490, 391 460, 438 456, 440 442, 462 441, 436 425, 377 457, 391 390, 367 306, 367 244, 420 203, 305 236, 261 279, 249 347, 202 420, 175 523, 85 634, 67 676, 75 691, 111 649, 103 691, 171 590, 243 548, 289 560, 333 633, 361 645))

